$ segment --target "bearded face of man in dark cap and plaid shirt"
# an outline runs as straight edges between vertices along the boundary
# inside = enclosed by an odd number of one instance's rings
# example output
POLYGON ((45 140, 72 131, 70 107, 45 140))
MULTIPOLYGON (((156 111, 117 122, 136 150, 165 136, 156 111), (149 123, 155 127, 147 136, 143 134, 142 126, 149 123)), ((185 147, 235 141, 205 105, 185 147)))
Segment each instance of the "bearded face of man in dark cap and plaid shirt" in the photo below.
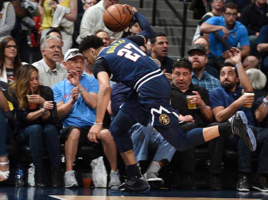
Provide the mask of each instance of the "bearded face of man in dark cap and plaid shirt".
POLYGON ((192 63, 194 71, 202 70, 208 61, 206 54, 199 50, 190 51, 189 60, 192 63))

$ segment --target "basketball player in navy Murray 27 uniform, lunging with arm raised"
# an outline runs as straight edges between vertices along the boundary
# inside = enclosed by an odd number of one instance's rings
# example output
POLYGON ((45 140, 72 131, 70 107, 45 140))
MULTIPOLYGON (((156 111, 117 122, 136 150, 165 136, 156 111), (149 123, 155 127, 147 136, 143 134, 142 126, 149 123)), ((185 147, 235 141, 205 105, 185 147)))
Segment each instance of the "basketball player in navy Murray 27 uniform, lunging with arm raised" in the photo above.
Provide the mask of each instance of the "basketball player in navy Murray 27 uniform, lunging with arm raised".
MULTIPOLYGON (((128 134, 130 127, 137 122, 146 126, 149 121, 179 151, 190 149, 220 135, 243 138, 251 151, 254 151, 255 136, 247 126, 243 111, 236 112, 227 122, 218 126, 197 128, 187 134, 183 133, 179 126, 179 114, 172 110, 170 105, 171 86, 167 77, 139 47, 153 36, 153 30, 137 9, 129 5, 124 7, 137 19, 142 32, 118 40, 108 47, 104 47, 100 38, 91 35, 85 37, 79 46, 79 51, 85 59, 94 65, 93 74, 100 85, 96 121, 88 134, 90 141, 97 142, 96 137, 100 137, 110 99, 109 79, 121 82, 133 90, 111 124, 111 134, 126 164, 127 178, 126 182, 111 187, 110 190, 146 192, 150 189, 146 177, 141 174, 136 164, 132 140, 128 134)), ((240 56, 239 50, 236 49, 234 54, 234 57, 240 56)))

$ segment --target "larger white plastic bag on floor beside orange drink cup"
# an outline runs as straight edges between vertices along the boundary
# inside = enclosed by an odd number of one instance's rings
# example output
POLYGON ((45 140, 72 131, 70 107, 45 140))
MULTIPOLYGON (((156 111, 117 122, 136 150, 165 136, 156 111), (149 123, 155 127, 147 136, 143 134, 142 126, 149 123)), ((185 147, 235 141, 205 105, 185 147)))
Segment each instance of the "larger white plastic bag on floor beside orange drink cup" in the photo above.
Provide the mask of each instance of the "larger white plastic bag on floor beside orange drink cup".
POLYGON ((95 187, 107 186, 107 172, 104 166, 103 157, 99 157, 91 162, 92 181, 95 187))

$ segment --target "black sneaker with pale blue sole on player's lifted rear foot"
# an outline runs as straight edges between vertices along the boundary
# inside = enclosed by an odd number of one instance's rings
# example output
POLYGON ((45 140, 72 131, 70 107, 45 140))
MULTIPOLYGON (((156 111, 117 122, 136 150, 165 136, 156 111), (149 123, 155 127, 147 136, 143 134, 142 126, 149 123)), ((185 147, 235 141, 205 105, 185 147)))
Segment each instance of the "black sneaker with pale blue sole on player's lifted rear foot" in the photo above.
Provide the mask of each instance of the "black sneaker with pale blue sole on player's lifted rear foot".
POLYGON ((247 117, 243 111, 237 111, 228 119, 232 128, 232 134, 238 138, 242 138, 251 151, 256 149, 256 139, 252 130, 247 125, 247 117))

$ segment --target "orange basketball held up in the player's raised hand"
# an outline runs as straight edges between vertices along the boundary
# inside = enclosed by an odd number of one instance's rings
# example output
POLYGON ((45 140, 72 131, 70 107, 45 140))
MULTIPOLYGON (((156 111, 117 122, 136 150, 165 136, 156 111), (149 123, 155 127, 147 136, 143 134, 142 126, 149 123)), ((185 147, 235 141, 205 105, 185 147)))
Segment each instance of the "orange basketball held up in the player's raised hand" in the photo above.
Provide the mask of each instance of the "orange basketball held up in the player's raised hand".
POLYGON ((104 25, 112 32, 125 30, 131 21, 130 12, 121 4, 108 7, 103 14, 104 25))

